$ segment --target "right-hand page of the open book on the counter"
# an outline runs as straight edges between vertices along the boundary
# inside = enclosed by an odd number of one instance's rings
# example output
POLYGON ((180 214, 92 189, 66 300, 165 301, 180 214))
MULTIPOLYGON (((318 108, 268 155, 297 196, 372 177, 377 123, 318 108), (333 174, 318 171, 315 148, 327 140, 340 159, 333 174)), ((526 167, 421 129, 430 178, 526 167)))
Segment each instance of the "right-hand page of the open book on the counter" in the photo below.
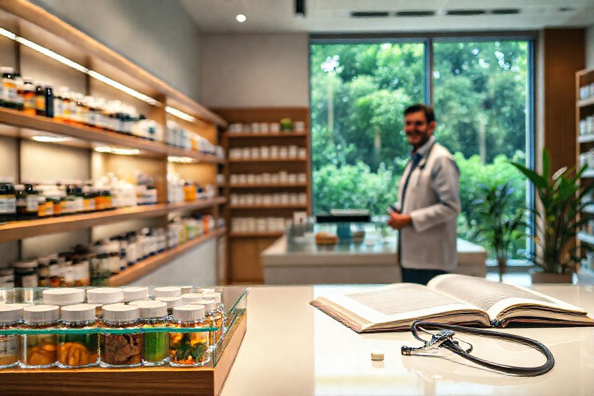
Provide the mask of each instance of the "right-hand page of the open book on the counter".
POLYGON ((497 318, 504 311, 523 305, 548 308, 558 312, 586 314, 582 308, 525 287, 495 283, 467 275, 439 275, 429 281, 427 286, 429 289, 450 294, 478 306, 492 319, 497 318))

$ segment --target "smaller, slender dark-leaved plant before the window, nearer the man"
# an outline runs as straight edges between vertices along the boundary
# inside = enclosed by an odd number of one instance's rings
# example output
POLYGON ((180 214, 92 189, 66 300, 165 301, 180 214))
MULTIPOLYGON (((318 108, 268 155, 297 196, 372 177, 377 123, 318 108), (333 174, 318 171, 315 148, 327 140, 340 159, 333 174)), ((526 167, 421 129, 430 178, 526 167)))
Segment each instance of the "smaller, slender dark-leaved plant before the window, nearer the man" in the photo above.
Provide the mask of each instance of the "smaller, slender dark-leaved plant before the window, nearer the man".
POLYGON ((513 182, 503 185, 481 185, 481 198, 473 201, 476 225, 473 239, 485 245, 489 253, 495 256, 499 271, 499 281, 507 267, 510 248, 517 237, 525 233, 527 227, 522 209, 515 212, 513 182))

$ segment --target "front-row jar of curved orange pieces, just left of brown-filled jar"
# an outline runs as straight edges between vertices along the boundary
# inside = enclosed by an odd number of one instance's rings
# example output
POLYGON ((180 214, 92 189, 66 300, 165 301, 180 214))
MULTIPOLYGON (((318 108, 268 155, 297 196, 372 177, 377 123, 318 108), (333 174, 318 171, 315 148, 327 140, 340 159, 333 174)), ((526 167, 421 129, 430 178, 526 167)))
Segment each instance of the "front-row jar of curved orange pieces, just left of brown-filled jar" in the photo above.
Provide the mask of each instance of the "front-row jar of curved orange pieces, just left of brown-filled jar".
MULTIPOLYGON (((99 326, 93 304, 67 305, 61 308, 62 326, 71 329, 96 328, 99 326)), ((58 366, 81 368, 97 364, 99 358, 99 334, 58 334, 58 366)))

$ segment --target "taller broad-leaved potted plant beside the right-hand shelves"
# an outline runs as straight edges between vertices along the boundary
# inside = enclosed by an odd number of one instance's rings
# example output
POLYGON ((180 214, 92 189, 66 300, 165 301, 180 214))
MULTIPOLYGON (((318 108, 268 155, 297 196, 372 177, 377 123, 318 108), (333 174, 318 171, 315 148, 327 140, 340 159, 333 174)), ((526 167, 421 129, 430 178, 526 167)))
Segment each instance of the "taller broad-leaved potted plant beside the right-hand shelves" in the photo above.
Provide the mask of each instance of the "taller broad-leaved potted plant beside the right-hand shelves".
MULTIPOLYGON (((579 246, 568 248, 587 218, 579 219, 577 214, 588 204, 594 184, 580 185, 582 173, 562 167, 551 175, 551 163, 546 150, 542 152, 542 175, 523 164, 512 163, 533 183, 540 207, 532 209, 535 214, 538 245, 533 258, 539 268, 530 270, 533 283, 571 282, 577 263, 581 261, 579 246)), ((538 206, 538 205, 536 205, 538 206)))

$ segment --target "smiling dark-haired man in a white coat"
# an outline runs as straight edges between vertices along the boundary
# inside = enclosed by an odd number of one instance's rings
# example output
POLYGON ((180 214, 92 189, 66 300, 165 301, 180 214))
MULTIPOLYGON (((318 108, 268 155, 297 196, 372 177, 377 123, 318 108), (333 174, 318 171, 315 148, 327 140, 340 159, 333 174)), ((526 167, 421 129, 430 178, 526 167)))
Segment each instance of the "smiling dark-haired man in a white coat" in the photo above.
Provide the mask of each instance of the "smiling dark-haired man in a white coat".
POLYGON ((460 171, 450 152, 435 141, 435 126, 431 107, 413 104, 405 110, 405 134, 412 151, 388 220, 399 230, 403 282, 426 284, 457 264, 460 171))

